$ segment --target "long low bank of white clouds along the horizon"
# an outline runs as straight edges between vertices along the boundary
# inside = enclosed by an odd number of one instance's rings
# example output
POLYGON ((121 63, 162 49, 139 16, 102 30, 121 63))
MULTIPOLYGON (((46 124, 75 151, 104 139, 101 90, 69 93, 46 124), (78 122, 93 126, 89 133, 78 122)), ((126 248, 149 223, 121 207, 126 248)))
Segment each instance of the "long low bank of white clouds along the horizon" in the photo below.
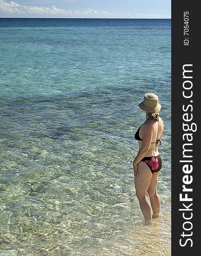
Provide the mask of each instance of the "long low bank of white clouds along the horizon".
POLYGON ((169 18, 163 14, 116 14, 95 9, 64 10, 52 7, 37 7, 20 5, 17 2, 0 0, 0 17, 95 17, 95 18, 169 18))

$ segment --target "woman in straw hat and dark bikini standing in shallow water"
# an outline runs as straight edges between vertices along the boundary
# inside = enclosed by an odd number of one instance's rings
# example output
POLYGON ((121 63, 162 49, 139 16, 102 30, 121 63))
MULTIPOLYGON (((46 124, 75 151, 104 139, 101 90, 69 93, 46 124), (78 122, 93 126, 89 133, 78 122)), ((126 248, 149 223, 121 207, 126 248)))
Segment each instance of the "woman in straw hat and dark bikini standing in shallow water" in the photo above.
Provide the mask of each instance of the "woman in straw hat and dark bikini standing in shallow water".
POLYGON ((139 151, 133 161, 135 190, 144 215, 145 224, 151 224, 152 218, 159 216, 161 206, 156 187, 162 166, 158 145, 161 145, 164 123, 159 117, 158 112, 161 109, 161 105, 158 102, 158 96, 154 93, 146 93, 144 101, 138 106, 146 112, 146 121, 135 133, 135 139, 139 143, 139 151), (151 204, 146 197, 147 192, 151 204))

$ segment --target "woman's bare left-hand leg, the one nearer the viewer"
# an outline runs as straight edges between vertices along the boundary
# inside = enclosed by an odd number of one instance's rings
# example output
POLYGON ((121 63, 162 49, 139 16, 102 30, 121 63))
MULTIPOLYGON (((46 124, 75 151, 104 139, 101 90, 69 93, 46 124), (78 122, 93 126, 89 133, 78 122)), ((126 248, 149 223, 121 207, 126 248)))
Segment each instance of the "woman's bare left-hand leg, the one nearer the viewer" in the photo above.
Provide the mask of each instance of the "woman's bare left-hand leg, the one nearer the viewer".
POLYGON ((149 188, 152 179, 152 172, 144 162, 138 163, 139 174, 135 177, 136 196, 140 203, 140 208, 144 216, 144 220, 152 219, 152 207, 146 197, 147 189, 149 188))

